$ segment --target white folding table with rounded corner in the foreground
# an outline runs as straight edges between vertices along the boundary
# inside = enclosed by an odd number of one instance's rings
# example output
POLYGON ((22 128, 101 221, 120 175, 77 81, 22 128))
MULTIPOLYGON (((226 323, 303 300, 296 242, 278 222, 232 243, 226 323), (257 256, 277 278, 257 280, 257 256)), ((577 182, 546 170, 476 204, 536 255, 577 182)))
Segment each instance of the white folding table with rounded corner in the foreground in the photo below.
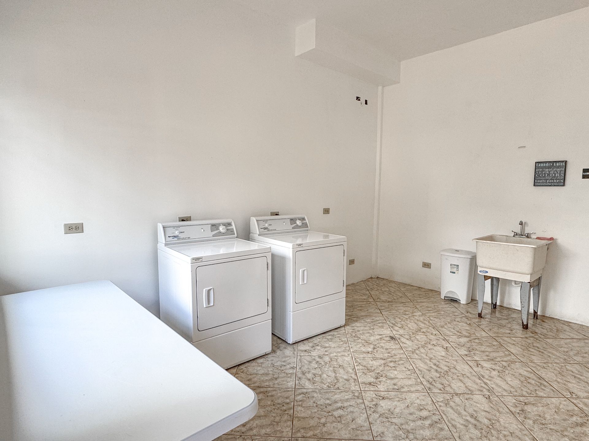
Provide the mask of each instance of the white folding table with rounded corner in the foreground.
POLYGON ((107 280, 0 296, 2 441, 212 440, 256 394, 107 280))

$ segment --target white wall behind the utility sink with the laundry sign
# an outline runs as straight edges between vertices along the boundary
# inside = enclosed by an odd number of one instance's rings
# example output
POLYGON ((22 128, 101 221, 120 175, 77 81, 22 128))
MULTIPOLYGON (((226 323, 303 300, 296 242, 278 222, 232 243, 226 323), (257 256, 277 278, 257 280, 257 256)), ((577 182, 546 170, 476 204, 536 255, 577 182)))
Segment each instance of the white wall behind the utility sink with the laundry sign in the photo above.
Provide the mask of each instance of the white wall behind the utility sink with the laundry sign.
MULTIPOLYGON (((556 238, 540 313, 589 325, 588 24, 585 8, 402 62, 385 88, 379 275, 439 288, 439 250, 524 220, 556 238), (564 188, 532 186, 535 161, 561 159, 564 188)), ((518 289, 499 303, 519 308, 518 289)))

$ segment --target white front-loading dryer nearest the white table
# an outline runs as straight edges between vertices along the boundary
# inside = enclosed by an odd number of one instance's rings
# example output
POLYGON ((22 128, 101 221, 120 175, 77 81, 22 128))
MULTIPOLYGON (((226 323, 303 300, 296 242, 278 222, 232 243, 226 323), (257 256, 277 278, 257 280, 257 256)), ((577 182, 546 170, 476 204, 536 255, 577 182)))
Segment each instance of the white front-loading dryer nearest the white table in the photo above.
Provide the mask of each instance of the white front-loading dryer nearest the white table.
POLYGON ((270 247, 231 219, 157 226, 160 319, 223 368, 269 353, 270 247))

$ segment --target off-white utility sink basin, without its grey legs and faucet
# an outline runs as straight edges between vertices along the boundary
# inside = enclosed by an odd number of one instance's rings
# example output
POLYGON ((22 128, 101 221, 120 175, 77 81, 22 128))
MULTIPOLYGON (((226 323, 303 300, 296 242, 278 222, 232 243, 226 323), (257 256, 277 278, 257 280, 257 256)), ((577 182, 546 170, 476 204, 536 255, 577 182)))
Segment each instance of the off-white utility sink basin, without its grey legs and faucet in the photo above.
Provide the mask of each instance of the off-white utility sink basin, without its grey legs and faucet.
POLYGON ((546 265, 549 240, 492 234, 477 242, 477 265, 516 274, 534 274, 546 265))

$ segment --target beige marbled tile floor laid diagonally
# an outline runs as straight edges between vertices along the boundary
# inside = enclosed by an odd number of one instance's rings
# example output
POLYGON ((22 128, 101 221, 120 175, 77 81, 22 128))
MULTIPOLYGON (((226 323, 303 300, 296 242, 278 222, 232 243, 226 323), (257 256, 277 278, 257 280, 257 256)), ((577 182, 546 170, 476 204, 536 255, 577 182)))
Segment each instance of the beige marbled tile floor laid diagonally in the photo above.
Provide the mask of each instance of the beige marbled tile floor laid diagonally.
POLYGON ((223 441, 589 440, 589 327, 348 285, 346 325, 232 368, 256 416, 223 441))

